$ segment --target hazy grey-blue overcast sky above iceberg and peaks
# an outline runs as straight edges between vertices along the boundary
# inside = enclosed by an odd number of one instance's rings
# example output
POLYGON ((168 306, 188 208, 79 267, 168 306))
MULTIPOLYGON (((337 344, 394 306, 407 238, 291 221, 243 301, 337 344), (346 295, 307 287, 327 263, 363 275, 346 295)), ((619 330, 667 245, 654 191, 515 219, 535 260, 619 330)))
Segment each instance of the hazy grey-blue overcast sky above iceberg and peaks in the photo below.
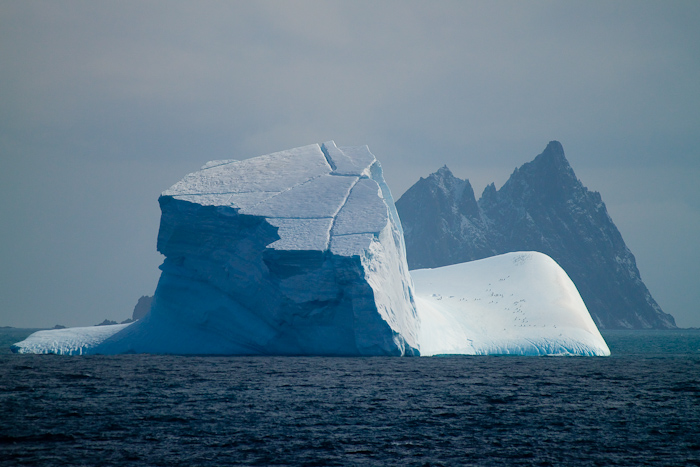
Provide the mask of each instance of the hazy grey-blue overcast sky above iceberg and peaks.
POLYGON ((0 0, 0 326, 153 294, 158 196, 209 160, 367 144, 398 197, 551 140, 700 326, 700 2, 0 0))

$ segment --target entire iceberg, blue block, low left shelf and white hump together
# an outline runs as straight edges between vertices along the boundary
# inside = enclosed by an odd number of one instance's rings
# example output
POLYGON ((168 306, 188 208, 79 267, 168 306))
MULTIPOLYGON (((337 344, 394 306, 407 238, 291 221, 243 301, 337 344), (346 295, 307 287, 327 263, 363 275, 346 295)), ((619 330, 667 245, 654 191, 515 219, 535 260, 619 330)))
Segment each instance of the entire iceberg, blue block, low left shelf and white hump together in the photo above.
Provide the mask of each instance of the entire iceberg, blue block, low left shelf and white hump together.
POLYGON ((609 354, 545 255, 409 273, 401 221, 367 146, 212 161, 159 204, 165 260, 146 316, 40 331, 14 352, 609 354))

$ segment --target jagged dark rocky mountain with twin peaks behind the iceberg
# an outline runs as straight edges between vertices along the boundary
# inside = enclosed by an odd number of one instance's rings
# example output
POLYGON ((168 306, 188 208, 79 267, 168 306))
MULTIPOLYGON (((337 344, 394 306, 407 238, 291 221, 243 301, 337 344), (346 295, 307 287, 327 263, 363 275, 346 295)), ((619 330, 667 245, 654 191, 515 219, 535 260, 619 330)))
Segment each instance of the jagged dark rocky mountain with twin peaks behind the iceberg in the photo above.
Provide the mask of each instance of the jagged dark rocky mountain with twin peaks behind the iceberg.
POLYGON ((634 255, 597 192, 576 178, 552 141, 477 202, 468 180, 447 167, 421 178, 396 202, 411 269, 534 250, 569 274, 600 328, 674 328, 652 298, 634 255))

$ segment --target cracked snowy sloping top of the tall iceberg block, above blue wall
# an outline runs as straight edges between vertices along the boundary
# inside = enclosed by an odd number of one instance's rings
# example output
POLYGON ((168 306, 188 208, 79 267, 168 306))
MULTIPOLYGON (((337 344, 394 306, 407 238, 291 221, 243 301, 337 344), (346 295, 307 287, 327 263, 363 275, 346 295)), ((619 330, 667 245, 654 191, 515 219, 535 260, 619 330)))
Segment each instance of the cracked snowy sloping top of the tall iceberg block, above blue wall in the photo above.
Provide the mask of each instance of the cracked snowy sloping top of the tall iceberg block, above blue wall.
POLYGON ((355 255, 390 219, 397 222, 369 148, 339 148, 333 141, 242 161, 211 161, 162 196, 265 217, 278 228, 280 239, 269 245, 277 250, 355 255))

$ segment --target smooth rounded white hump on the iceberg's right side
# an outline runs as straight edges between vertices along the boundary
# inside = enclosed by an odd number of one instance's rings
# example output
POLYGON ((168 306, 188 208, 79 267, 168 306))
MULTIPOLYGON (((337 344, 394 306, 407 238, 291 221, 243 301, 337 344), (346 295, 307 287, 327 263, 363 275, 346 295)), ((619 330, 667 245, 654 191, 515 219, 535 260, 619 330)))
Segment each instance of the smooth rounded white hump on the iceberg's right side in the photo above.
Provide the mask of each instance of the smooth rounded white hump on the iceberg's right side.
POLYGON ((421 355, 610 355, 576 286, 549 256, 411 271, 421 355))

